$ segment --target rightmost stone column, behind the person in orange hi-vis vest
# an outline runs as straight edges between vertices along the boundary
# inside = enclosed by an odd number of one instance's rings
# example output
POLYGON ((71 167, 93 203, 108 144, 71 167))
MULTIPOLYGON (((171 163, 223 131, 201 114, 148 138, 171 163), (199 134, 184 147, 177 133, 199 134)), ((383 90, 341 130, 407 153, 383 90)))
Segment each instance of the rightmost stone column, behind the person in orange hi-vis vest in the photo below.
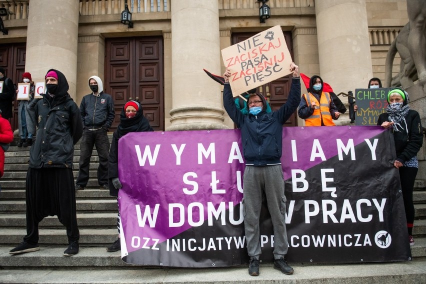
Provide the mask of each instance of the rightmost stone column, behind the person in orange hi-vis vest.
POLYGON ((372 77, 365 0, 315 1, 315 14, 321 78, 336 93, 365 87, 372 77))

